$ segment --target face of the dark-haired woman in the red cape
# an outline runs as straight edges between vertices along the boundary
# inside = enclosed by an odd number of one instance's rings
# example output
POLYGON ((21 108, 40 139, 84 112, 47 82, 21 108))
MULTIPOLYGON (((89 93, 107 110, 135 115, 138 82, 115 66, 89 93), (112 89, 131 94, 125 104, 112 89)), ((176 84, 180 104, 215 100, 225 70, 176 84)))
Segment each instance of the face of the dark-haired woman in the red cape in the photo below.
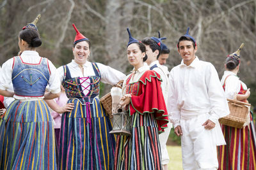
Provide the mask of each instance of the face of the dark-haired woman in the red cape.
POLYGON ((145 57, 145 52, 141 52, 137 43, 132 43, 127 47, 127 58, 135 69, 143 66, 143 57, 145 57))

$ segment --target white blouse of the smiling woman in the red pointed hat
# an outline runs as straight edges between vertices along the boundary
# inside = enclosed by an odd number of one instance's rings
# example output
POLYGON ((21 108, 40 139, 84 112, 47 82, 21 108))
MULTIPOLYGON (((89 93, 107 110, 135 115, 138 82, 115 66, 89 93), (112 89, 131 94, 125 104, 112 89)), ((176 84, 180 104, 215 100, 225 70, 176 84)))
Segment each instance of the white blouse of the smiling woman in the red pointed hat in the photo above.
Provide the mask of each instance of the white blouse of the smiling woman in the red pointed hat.
MULTIPOLYGON (((100 71, 100 76, 101 76, 101 80, 102 83, 108 83, 110 85, 115 85, 116 83, 118 83, 118 81, 120 80, 124 80, 125 78, 125 74, 113 69, 109 66, 105 66, 104 64, 100 64, 99 62, 96 63, 99 71, 100 71)), ((86 76, 95 76, 95 72, 93 70, 93 66, 92 66, 92 62, 86 61, 86 63, 83 65, 83 70, 84 73, 82 73, 81 69, 79 68, 79 65, 75 62, 75 60, 72 60, 72 62, 67 64, 68 69, 70 71, 70 75, 72 78, 75 77, 80 77, 80 78, 84 78, 86 76)), ((63 82, 63 78, 64 78, 64 69, 63 66, 58 67, 57 69, 58 74, 60 75, 60 82, 63 82)), ((83 87, 88 87, 90 85, 90 82, 86 81, 86 79, 84 79, 83 81, 83 87)), ((90 86, 89 86, 90 87, 90 86)), ((84 94, 88 94, 88 92, 90 92, 90 89, 83 89, 84 94)))

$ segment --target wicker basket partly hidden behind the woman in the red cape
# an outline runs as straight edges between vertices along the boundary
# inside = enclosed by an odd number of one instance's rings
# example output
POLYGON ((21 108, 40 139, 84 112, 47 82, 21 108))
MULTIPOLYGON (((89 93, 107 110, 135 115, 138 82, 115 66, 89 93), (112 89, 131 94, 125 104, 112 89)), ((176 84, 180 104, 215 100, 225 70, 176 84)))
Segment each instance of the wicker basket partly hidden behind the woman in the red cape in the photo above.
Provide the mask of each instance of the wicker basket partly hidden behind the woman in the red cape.
MULTIPOLYGON (((124 80, 119 81, 114 87, 119 87, 122 89, 124 80)), ((112 97, 110 92, 106 94, 105 96, 100 98, 100 103, 102 104, 103 108, 106 111, 106 114, 108 115, 109 118, 113 118, 113 113, 112 113, 112 97)))

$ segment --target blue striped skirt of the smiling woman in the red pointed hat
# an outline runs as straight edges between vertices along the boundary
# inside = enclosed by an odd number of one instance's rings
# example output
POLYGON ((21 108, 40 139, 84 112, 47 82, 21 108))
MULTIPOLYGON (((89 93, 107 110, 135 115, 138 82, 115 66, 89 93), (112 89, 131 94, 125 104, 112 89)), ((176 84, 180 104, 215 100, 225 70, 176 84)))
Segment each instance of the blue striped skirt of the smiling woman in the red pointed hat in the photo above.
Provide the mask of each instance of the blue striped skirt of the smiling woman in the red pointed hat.
POLYGON ((99 99, 82 105, 70 99, 74 110, 61 118, 59 169, 113 169, 115 136, 99 99))

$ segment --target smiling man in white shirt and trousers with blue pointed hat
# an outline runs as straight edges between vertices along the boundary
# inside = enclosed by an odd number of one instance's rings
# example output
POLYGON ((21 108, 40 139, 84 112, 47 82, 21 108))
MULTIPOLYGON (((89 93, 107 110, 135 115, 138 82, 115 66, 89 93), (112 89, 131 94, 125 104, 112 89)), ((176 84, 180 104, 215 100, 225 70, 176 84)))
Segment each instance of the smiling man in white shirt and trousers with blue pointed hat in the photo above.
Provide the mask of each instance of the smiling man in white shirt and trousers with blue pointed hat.
MULTIPOLYGON (((189 31, 189 28, 188 28, 189 31)), ((196 41, 188 31, 179 38, 179 66, 169 74, 168 113, 181 137, 185 170, 218 169, 216 146, 225 145, 218 119, 229 114, 214 66, 195 56, 196 41)))

